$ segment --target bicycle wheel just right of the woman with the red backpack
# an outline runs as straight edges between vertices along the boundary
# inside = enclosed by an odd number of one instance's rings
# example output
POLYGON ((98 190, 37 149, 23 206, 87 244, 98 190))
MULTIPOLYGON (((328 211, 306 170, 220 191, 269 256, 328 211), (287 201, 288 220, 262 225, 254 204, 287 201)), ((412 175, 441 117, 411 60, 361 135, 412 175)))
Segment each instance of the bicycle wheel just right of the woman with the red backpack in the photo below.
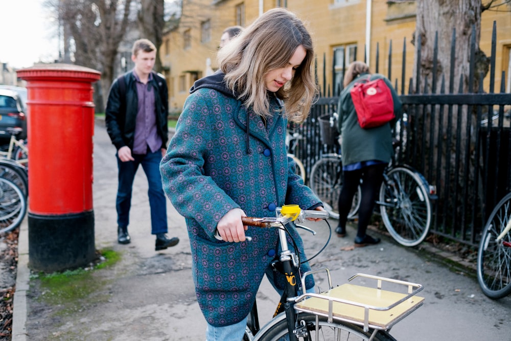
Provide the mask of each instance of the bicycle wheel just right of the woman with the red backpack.
POLYGON ((431 202, 422 176, 407 167, 398 166, 387 172, 389 184, 380 187, 380 213, 383 223, 398 243, 415 246, 429 232, 431 202))

